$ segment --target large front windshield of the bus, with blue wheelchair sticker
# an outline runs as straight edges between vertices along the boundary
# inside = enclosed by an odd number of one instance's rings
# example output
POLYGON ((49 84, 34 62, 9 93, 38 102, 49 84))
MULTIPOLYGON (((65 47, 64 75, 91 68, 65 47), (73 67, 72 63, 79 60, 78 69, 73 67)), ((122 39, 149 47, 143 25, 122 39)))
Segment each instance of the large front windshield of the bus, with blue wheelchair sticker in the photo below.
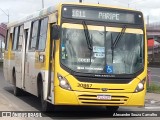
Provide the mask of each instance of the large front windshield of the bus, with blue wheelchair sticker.
POLYGON ((143 33, 124 32, 117 40, 121 30, 101 28, 88 29, 92 50, 83 28, 62 28, 61 63, 75 72, 91 74, 133 74, 141 70, 143 33))

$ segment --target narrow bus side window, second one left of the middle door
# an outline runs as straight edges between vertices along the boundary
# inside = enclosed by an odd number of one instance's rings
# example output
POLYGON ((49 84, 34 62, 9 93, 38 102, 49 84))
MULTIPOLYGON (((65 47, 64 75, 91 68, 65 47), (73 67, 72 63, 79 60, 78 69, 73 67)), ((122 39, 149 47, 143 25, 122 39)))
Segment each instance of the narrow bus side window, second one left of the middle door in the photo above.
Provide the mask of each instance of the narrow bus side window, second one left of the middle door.
POLYGON ((15 27, 14 34, 13 34, 12 50, 17 50, 18 48, 18 34, 19 34, 19 27, 15 27))

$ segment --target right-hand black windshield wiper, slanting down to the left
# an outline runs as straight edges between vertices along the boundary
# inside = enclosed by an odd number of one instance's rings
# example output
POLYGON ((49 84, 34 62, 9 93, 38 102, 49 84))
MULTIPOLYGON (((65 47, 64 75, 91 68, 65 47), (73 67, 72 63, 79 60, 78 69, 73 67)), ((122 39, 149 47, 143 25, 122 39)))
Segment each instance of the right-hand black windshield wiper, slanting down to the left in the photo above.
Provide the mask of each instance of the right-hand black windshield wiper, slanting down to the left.
POLYGON ((117 35, 116 39, 114 40, 113 44, 112 44, 112 50, 116 47, 117 43, 119 42, 119 40, 121 40, 123 34, 126 31, 126 26, 122 27, 121 32, 117 35))

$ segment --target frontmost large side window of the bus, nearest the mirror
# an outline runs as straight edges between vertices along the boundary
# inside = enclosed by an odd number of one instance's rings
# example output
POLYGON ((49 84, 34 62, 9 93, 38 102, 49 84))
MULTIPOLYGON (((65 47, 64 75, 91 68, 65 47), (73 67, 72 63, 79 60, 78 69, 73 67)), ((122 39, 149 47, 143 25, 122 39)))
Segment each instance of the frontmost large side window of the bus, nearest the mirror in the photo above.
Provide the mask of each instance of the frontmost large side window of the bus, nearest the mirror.
POLYGON ((44 51, 47 39, 48 18, 44 18, 40 23, 40 35, 38 40, 38 50, 44 51))

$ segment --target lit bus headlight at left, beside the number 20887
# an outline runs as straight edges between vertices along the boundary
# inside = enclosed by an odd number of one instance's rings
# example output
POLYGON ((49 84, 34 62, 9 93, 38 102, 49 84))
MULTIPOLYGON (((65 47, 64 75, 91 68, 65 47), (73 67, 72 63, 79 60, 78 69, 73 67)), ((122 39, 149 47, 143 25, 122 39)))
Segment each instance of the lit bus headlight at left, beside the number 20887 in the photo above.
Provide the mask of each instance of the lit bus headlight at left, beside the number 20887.
POLYGON ((57 74, 59 80, 59 86, 66 90, 72 90, 70 84, 68 83, 67 79, 65 79, 62 75, 57 74))

